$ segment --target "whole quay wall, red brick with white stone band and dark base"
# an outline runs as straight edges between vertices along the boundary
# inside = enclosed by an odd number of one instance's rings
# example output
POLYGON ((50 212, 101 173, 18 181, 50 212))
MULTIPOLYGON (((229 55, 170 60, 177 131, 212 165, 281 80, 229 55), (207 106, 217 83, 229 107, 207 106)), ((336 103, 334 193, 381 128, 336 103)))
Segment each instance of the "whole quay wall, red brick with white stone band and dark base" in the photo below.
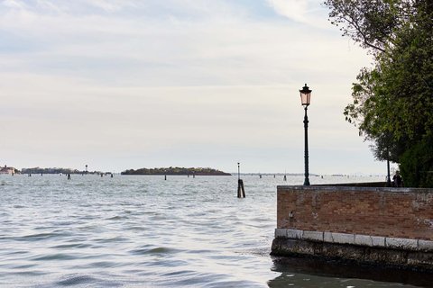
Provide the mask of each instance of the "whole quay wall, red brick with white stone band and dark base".
POLYGON ((433 189, 375 185, 278 186, 272 256, 433 272, 433 189))

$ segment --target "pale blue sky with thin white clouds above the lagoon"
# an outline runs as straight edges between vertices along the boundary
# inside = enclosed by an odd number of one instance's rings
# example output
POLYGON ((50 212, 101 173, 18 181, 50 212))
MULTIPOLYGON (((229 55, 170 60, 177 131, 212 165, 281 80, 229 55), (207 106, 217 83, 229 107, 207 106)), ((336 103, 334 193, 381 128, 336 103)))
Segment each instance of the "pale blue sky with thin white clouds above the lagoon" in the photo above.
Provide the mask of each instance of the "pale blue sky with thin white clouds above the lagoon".
POLYGON ((0 165, 380 174, 321 0, 0 1, 0 165))

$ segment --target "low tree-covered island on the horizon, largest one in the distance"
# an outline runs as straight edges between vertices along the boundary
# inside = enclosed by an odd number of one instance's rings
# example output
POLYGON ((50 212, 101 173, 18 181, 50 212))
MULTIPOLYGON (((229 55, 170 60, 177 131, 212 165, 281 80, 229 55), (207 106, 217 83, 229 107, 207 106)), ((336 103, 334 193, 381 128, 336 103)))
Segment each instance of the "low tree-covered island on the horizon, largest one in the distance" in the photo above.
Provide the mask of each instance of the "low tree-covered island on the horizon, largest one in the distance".
POLYGON ((185 167, 168 167, 168 168, 140 168, 129 169, 121 173, 122 175, 231 175, 213 168, 185 168, 185 167))

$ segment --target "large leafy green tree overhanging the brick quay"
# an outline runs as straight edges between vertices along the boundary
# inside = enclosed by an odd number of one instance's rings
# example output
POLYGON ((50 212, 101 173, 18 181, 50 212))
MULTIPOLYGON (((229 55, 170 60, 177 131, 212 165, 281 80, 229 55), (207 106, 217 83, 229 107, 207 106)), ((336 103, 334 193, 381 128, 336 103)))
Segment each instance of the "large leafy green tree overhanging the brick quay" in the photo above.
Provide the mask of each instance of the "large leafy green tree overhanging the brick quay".
MULTIPOLYGON (((411 156, 419 157, 419 148, 414 147, 425 147, 433 139, 433 1, 328 0, 325 4, 331 22, 374 58, 373 67, 362 68, 356 77, 353 103, 345 107, 346 121, 373 140, 377 159, 399 163, 408 179, 428 179, 408 174, 432 173, 431 150, 422 161, 412 161, 419 163, 417 169, 404 166, 411 156)), ((410 184, 433 185, 421 182, 410 184)))

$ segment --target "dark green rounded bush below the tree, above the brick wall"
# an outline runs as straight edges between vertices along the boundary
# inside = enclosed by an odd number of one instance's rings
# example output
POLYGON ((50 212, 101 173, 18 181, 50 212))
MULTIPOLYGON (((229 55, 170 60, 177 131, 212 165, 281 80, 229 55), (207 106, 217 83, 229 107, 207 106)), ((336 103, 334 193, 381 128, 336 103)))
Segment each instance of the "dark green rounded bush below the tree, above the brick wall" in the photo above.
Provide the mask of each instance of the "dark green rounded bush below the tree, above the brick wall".
POLYGON ((433 187, 433 137, 422 139, 401 156, 401 174, 410 187, 433 187))

